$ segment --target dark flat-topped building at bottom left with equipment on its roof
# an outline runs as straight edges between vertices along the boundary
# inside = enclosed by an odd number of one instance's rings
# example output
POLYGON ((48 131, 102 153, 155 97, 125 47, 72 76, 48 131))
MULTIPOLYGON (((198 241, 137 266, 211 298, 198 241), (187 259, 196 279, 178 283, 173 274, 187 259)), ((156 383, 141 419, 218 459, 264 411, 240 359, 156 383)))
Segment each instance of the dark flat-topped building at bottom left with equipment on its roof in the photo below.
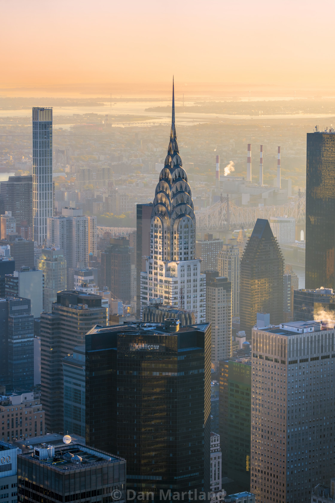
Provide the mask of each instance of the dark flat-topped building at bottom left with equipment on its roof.
POLYGON ((81 444, 18 454, 18 501, 126 501, 126 460, 81 444), (117 498, 115 496, 117 495, 117 498), (92 498, 92 499, 91 499, 92 498))

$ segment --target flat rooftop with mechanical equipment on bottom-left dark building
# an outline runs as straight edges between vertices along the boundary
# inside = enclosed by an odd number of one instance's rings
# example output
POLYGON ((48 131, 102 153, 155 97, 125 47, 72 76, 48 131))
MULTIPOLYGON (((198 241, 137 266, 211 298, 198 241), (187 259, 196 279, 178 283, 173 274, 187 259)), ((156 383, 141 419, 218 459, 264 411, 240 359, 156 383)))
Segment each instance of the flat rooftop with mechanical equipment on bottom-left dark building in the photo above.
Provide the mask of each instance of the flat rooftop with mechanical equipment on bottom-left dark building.
MULTIPOLYGON (((86 466, 95 466, 105 463, 116 463, 124 461, 119 456, 108 454, 107 452, 99 451, 91 447, 86 447, 81 444, 65 445, 64 447, 55 447, 54 456, 40 460, 34 455, 35 452, 46 450, 47 444, 35 446, 34 451, 22 454, 23 457, 33 459, 38 463, 52 466, 59 471, 77 470, 86 466)), ((51 450, 49 450, 51 452, 51 450)), ((49 454, 48 454, 49 456, 49 454)))

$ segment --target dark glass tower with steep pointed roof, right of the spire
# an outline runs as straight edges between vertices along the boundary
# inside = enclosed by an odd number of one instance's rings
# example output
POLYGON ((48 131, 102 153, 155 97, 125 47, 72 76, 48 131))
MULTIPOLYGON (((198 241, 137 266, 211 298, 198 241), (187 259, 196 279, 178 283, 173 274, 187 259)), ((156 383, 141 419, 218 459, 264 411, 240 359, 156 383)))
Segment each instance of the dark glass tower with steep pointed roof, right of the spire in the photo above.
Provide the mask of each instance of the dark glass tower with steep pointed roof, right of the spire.
POLYGON ((283 316, 284 259, 269 221, 257 219, 245 247, 240 269, 240 329, 251 338, 258 312, 270 313, 270 323, 283 316))

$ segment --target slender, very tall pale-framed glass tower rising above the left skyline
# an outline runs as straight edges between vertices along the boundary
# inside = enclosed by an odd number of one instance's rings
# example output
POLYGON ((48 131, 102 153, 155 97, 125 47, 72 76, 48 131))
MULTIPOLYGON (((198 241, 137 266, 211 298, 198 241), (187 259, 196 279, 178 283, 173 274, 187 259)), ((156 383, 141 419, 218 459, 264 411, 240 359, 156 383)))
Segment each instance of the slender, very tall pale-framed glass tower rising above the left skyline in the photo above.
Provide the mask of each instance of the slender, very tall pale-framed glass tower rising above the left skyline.
POLYGON ((33 107, 33 233, 38 244, 47 238, 52 210, 52 108, 33 107))

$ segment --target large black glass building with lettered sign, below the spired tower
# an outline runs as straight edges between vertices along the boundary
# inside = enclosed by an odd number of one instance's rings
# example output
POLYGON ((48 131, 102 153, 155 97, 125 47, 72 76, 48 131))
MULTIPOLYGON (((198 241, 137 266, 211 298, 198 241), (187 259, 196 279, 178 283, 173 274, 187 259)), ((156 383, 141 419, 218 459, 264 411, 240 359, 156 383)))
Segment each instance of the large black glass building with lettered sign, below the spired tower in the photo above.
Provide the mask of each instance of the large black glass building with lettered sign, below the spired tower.
POLYGON ((86 334, 86 442, 124 457, 127 489, 154 501, 160 489, 208 491, 210 324, 142 327, 86 334))

